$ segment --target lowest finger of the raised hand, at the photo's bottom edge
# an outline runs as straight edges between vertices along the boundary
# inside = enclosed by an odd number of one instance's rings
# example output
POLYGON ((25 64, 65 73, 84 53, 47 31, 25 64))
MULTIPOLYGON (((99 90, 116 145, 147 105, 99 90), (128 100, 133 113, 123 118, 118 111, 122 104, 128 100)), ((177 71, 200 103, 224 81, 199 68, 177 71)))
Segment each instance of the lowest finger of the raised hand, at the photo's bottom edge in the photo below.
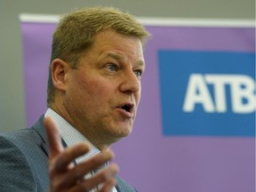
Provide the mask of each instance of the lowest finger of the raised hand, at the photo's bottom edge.
POLYGON ((100 192, 108 191, 108 189, 113 188, 116 185, 115 175, 118 172, 118 169, 117 164, 110 164, 108 168, 98 172, 92 178, 78 183, 71 191, 90 191, 92 188, 100 188, 100 192))

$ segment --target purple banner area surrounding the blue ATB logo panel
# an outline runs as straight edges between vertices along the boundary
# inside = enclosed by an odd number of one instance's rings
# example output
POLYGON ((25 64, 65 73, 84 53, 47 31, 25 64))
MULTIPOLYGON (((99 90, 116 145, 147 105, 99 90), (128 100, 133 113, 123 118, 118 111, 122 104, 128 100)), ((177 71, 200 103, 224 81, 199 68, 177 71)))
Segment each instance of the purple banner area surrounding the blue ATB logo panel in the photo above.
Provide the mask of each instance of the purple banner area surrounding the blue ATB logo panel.
MULTIPOLYGON (((21 23, 28 126, 46 110, 55 27, 21 23)), ((254 192, 254 137, 164 135, 162 117, 167 114, 160 100, 158 52, 254 53, 255 28, 146 27, 152 38, 145 50, 139 113, 132 135, 113 146, 121 176, 141 192, 254 192)), ((179 116, 170 116, 169 121, 175 118, 179 116)))

